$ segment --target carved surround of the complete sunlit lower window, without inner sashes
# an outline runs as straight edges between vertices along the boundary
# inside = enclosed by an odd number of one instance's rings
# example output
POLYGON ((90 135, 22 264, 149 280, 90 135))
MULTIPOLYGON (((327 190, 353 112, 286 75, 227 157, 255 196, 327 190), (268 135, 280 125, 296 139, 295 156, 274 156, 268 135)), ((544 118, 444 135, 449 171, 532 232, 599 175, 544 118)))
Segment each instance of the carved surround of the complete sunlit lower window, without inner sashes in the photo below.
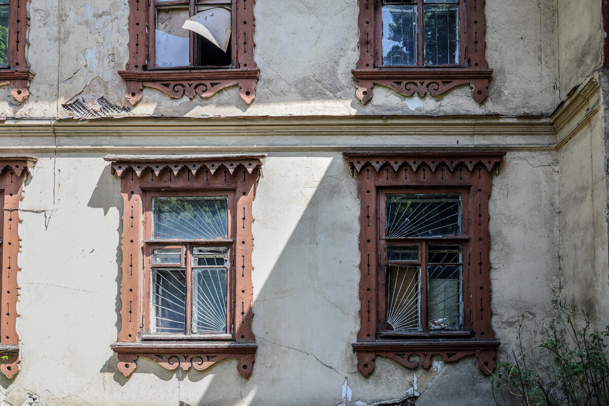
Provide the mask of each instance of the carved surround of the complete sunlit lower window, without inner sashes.
MULTIPOLYGON (((252 373, 256 340, 252 331, 252 203, 262 175, 264 155, 187 156, 139 158, 108 156, 111 170, 121 178, 122 217, 122 327, 116 343, 119 370, 129 376, 136 359, 146 357, 167 369, 206 369, 227 358, 236 358, 239 373, 252 373), (153 195, 234 195, 230 211, 234 227, 232 293, 234 311, 231 335, 148 334, 149 299, 146 290, 146 201, 153 195)), ((162 243, 167 245, 166 241, 162 243)))

